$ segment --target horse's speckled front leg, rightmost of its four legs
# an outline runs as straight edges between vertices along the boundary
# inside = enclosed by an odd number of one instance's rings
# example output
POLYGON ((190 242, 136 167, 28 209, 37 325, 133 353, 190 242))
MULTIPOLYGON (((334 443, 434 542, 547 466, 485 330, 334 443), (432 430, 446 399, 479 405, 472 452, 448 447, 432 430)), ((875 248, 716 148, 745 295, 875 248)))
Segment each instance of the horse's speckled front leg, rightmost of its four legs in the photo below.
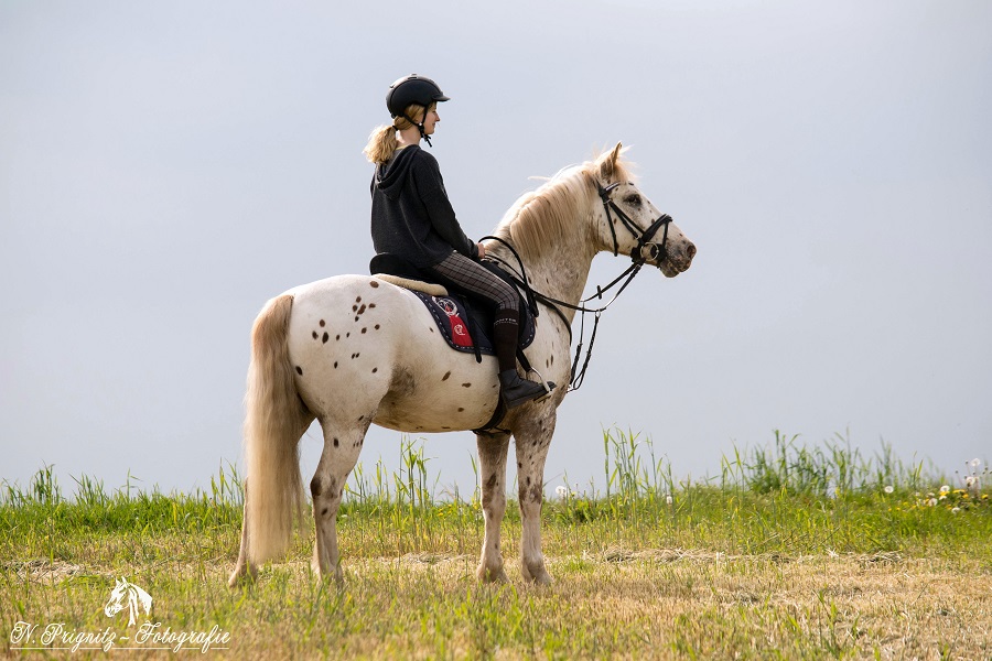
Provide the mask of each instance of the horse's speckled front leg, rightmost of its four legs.
POLYGON ((541 585, 551 583, 541 554, 541 505, 544 500, 544 459, 554 433, 554 413, 535 408, 536 415, 514 431, 517 442, 517 485, 520 498, 522 534, 520 537, 520 571, 526 581, 541 585), (540 413, 538 413, 540 412, 540 413))

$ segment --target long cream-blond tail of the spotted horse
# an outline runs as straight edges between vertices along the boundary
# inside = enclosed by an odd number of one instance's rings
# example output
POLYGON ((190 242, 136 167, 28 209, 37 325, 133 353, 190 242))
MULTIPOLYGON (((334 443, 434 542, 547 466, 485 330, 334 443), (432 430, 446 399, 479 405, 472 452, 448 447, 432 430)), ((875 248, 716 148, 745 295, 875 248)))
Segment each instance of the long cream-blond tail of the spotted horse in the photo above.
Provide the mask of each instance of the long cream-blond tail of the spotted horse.
POLYGON ((245 525, 252 563, 283 555, 302 514, 299 442, 309 416, 296 394, 289 357, 293 296, 269 301, 251 329, 245 395, 245 525))

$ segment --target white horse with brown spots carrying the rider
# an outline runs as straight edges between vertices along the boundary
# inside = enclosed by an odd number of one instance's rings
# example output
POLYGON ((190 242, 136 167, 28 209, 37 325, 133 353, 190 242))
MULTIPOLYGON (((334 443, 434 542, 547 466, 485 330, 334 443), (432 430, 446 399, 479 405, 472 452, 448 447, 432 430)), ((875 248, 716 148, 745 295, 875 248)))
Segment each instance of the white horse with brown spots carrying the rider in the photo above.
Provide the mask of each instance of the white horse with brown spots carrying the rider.
MULTIPOLYGON (((541 377, 569 383, 571 324, 593 258, 603 251, 658 267, 668 278, 686 271, 696 246, 637 188, 622 144, 567 167, 522 195, 506 213, 487 256, 539 292, 540 314, 527 361, 541 377), (664 229, 664 239, 655 241, 664 229), (519 259, 519 263, 517 262, 519 259)), ((499 534, 506 510, 506 462, 515 440, 522 517, 524 579, 551 582, 541 553, 544 460, 556 410, 568 388, 510 410, 487 425, 499 400, 495 357, 452 350, 431 314, 409 290, 374 275, 337 275, 271 299, 251 332, 245 419, 245 520, 228 584, 256 576, 282 556, 294 513, 305 496, 300 437, 316 419, 323 451, 310 483, 315 541, 312 567, 343 578, 336 517, 345 483, 373 423, 410 433, 479 430, 485 532, 476 571, 481 582, 506 582, 499 534)))

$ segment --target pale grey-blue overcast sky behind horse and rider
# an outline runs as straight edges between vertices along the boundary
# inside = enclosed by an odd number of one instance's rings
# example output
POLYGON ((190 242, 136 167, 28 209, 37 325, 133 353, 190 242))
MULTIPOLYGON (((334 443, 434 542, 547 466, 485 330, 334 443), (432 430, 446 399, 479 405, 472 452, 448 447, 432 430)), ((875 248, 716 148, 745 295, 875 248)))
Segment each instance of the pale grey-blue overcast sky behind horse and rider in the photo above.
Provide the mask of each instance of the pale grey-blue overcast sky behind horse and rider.
MULTIPOLYGON (((0 480, 240 465, 251 323, 367 272, 362 150, 409 73, 451 97, 432 153, 470 237, 623 142, 699 249, 604 314, 549 489, 602 488, 614 426, 679 478, 776 430, 992 458, 992 3, 0 0, 0 480)), ((474 436, 423 438, 471 489, 474 436)))

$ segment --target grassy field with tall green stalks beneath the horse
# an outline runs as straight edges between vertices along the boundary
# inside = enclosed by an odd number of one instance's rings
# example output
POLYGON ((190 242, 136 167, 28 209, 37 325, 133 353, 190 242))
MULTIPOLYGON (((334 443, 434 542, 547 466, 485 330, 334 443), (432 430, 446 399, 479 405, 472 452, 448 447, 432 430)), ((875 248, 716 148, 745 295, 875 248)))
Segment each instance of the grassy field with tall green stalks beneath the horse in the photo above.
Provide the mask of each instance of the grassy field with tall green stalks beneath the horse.
MULTIPOLYGON (((396 659, 992 659, 992 474, 904 464, 883 445, 776 434, 679 481, 649 438, 604 433, 602 484, 546 486, 556 582, 478 585, 478 492, 438 497, 422 444, 356 472, 338 533, 345 582, 284 563, 226 587, 240 530, 231 470, 209 492, 107 492, 53 472, 0 494, 6 654, 396 659), (151 613, 108 616, 126 578, 151 613), (88 651, 87 651, 88 650, 88 651)), ((130 480, 129 480, 130 483, 130 480)))

